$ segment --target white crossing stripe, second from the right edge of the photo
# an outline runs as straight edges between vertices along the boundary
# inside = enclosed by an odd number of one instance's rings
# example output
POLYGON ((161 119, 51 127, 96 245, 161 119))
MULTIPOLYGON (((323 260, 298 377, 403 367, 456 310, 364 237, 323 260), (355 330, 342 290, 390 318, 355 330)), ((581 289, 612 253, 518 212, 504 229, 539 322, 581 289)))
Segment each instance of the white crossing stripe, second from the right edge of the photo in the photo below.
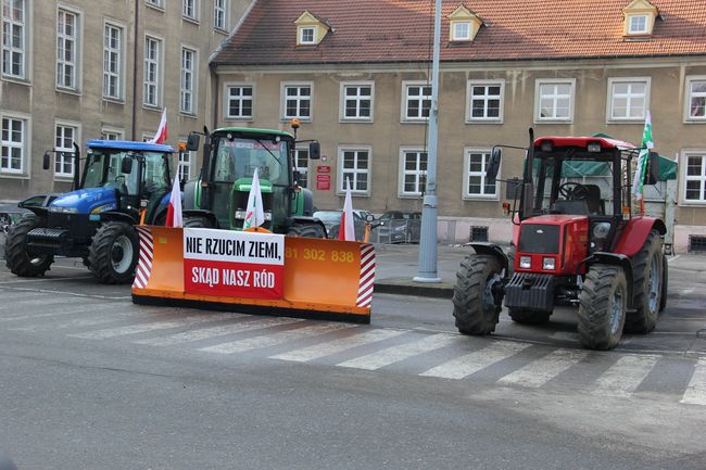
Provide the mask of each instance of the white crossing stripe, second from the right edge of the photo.
POLYGON ((629 397, 655 367, 659 356, 628 354, 596 380, 594 395, 629 397))

